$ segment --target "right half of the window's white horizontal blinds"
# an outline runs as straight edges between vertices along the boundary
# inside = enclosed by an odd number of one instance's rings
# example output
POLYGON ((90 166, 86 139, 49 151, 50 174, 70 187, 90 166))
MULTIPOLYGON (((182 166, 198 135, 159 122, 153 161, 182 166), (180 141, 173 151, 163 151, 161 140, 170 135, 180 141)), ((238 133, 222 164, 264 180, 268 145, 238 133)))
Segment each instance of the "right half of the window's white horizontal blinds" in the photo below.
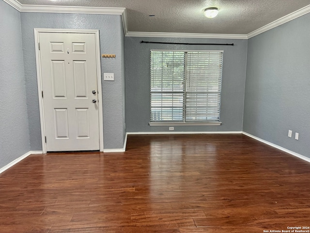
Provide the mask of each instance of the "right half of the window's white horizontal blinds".
POLYGON ((218 122, 223 53, 187 53, 186 121, 218 122))

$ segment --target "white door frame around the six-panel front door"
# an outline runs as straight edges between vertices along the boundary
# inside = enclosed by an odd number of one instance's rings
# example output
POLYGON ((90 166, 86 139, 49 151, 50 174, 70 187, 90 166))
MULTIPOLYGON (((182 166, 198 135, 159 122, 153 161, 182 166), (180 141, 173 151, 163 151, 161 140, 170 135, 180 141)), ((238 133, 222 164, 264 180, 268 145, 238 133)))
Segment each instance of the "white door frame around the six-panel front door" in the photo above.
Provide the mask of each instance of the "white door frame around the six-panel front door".
POLYGON ((41 71, 41 58, 39 52, 39 33, 93 33, 95 35, 95 48, 96 48, 96 67, 97 67, 97 86, 98 86, 98 115, 99 115, 99 150, 103 151, 103 104, 102 104, 102 86, 101 86, 101 61, 100 61, 100 40, 99 30, 78 30, 78 29, 34 29, 34 47, 35 47, 35 60, 37 66, 37 81, 38 81, 38 97, 39 97, 39 110, 41 122, 41 140, 43 153, 47 152, 47 144, 45 142, 46 129, 45 129, 45 116, 44 116, 44 101, 42 98, 42 71, 41 71))

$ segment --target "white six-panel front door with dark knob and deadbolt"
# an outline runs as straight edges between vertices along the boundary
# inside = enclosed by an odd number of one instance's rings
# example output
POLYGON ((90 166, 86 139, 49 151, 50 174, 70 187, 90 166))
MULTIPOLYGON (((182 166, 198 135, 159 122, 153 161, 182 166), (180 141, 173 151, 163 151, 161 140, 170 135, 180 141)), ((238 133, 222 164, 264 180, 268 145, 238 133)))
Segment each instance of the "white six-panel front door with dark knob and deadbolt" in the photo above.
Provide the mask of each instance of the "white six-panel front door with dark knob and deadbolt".
POLYGON ((93 33, 39 33, 47 151, 99 150, 93 33))

